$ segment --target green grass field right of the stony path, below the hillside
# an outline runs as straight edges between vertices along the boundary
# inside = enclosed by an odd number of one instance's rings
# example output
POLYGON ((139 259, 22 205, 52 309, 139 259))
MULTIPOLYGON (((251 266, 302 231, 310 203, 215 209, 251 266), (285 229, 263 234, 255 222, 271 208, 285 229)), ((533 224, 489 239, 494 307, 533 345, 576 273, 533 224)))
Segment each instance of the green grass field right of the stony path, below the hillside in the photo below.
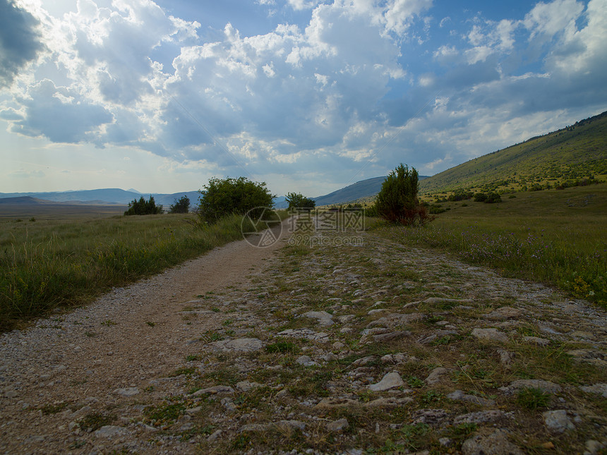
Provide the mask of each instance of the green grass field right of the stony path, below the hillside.
POLYGON ((498 204, 443 202, 447 211, 423 228, 380 223, 374 230, 559 286, 607 308, 607 185, 510 196, 498 204))

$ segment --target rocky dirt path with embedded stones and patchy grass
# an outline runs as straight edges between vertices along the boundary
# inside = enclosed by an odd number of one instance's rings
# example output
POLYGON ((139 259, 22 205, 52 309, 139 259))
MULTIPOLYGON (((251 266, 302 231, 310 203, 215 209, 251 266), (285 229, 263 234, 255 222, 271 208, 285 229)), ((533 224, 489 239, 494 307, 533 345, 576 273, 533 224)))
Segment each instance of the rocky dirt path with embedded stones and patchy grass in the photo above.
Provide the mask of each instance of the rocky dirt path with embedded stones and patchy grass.
POLYGON ((606 453, 603 311, 362 239, 232 243, 4 334, 0 451, 606 453))

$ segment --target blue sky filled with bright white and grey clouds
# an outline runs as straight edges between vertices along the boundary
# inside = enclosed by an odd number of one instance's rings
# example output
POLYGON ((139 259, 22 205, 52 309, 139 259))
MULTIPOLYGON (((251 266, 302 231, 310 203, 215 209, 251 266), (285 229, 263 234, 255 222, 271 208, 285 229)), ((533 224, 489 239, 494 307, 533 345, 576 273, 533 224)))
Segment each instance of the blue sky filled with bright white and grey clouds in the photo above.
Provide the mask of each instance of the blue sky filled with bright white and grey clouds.
POLYGON ((607 0, 0 0, 0 192, 318 196, 607 110, 607 0))

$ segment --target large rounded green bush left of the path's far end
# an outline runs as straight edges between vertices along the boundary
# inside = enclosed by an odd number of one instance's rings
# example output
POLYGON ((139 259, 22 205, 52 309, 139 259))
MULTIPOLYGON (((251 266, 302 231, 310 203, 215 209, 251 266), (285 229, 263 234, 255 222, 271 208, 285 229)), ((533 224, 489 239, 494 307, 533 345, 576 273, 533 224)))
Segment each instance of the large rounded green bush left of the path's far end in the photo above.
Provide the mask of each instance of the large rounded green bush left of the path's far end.
MULTIPOLYGON (((198 216, 203 222, 215 223, 229 214, 246 214, 256 207, 272 208, 272 196, 265 182, 258 183, 239 178, 211 178, 204 190, 198 205, 198 216)), ((252 213, 256 217, 263 212, 252 213)))

